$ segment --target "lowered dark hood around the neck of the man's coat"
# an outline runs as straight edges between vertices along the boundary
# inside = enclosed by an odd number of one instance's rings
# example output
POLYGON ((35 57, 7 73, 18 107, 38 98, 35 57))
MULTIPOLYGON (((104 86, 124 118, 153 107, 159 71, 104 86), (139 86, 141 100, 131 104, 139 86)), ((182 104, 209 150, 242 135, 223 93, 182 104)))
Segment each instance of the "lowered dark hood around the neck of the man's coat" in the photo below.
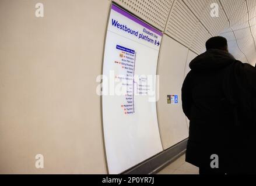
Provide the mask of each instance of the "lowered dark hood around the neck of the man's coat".
POLYGON ((190 69, 195 71, 214 71, 231 65, 236 59, 228 52, 210 49, 197 56, 190 63, 190 69))

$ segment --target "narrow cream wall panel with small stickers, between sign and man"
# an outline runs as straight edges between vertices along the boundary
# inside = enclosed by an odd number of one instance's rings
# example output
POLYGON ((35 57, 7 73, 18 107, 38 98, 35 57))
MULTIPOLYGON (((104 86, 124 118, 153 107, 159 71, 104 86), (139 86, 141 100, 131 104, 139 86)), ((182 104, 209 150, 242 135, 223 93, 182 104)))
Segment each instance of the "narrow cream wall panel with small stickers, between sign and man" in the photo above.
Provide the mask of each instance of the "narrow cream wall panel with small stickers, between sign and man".
POLYGON ((188 128, 181 105, 181 86, 188 48, 164 34, 159 56, 160 99, 157 102, 163 148, 188 137, 188 128), (178 104, 167 104, 167 95, 178 95, 178 104))

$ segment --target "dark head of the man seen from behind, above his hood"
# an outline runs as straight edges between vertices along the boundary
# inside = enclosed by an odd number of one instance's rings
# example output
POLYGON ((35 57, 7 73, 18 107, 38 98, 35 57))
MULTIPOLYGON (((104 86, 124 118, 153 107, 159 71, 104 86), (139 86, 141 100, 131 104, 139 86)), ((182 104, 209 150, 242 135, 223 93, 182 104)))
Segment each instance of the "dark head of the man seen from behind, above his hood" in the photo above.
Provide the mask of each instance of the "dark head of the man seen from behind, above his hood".
POLYGON ((229 49, 227 47, 227 40, 225 37, 221 36, 209 38, 209 40, 206 41, 205 47, 207 51, 209 49, 219 49, 222 51, 229 52, 229 49))

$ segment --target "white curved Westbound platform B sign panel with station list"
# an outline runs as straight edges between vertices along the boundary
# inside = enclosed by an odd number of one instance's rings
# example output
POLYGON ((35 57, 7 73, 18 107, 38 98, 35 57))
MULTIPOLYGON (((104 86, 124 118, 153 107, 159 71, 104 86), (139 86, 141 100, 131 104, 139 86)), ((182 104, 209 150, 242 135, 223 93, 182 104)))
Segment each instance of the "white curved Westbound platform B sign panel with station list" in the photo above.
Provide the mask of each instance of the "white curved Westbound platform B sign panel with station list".
POLYGON ((162 33, 112 5, 103 63, 102 112, 110 174, 163 151, 156 112, 162 33))

